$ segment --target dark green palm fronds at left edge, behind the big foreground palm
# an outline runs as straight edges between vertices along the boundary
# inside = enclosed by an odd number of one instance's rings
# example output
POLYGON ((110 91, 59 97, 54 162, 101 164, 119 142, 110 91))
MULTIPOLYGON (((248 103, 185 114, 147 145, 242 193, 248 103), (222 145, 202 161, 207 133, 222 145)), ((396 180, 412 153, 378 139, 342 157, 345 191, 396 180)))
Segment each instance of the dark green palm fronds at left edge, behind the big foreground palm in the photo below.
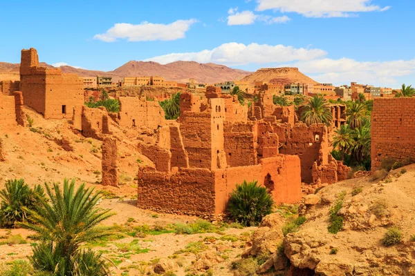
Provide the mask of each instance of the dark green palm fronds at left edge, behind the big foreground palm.
POLYGON ((15 227, 18 222, 27 221, 28 212, 25 208, 35 208, 38 197, 44 197, 44 190, 41 186, 30 189, 24 183, 24 179, 6 181, 6 188, 0 191, 1 226, 11 228, 15 227))

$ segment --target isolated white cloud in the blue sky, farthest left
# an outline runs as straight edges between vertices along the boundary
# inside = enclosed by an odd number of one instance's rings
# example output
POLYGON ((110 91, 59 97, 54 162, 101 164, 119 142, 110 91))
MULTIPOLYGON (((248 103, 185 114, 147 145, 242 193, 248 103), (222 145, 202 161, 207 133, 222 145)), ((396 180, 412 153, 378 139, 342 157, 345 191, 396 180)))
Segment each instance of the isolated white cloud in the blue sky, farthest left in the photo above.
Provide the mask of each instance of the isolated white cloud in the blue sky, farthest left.
POLYGON ((173 23, 158 24, 147 21, 133 25, 130 23, 116 23, 104 34, 95 34, 94 39, 104 42, 113 42, 117 39, 127 39, 128 41, 171 41, 183 39, 185 33, 196 19, 178 20, 173 23))

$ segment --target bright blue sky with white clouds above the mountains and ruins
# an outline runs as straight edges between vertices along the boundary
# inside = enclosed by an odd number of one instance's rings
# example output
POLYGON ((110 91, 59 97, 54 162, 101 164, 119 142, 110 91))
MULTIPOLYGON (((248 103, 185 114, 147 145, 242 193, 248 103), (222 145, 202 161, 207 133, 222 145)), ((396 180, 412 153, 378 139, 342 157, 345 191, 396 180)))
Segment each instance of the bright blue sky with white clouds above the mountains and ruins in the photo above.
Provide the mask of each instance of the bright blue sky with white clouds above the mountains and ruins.
POLYGON ((414 0, 2 1, 0 61, 298 67, 321 83, 415 85, 414 0))

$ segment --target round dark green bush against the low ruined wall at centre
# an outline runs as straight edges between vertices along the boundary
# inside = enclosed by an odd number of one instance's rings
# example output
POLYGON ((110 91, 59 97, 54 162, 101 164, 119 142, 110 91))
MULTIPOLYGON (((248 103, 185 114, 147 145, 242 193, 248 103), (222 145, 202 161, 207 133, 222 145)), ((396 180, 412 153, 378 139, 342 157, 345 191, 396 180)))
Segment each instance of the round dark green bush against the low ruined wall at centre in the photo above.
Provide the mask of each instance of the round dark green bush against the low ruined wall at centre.
POLYGON ((258 181, 237 185, 229 199, 230 217, 243 226, 255 226, 269 215, 274 206, 273 198, 266 188, 258 186, 258 181))

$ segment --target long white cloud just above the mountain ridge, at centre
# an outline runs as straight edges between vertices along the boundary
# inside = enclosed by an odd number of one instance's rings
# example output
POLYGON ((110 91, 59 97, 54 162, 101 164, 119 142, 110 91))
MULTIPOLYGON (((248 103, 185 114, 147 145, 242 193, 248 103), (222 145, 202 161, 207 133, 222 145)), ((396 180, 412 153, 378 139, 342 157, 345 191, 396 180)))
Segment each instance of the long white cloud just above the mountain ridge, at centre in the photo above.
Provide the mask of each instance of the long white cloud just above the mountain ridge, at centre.
POLYGON ((219 63, 239 66, 249 63, 280 63, 304 61, 324 57, 326 52, 320 49, 293 48, 292 46, 250 43, 225 43, 212 50, 200 52, 183 52, 152 57, 145 61, 166 64, 174 61, 197 61, 199 63, 219 63))

